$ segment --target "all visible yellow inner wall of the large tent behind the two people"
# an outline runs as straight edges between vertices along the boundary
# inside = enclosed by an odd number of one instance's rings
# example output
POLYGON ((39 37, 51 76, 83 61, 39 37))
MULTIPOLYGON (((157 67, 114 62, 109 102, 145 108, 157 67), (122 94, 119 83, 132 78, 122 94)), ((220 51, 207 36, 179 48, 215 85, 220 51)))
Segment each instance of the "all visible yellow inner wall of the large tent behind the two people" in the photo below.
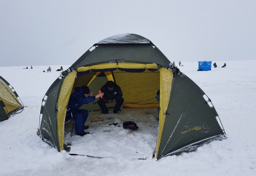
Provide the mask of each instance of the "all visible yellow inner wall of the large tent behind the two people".
MULTIPOLYGON (((109 72, 90 72, 89 74, 82 75, 75 79, 74 87, 87 85, 96 95, 101 86, 107 81, 113 80, 107 79, 105 75, 108 74, 109 72), (93 77, 93 75, 98 76, 93 77), (91 81, 91 77, 93 77, 93 81, 91 81)), ((158 107, 159 102, 156 101, 156 92, 159 90, 159 71, 151 72, 146 70, 145 72, 122 72, 120 70, 114 70, 113 78, 122 90, 122 97, 125 99, 123 104, 124 107, 158 107)))

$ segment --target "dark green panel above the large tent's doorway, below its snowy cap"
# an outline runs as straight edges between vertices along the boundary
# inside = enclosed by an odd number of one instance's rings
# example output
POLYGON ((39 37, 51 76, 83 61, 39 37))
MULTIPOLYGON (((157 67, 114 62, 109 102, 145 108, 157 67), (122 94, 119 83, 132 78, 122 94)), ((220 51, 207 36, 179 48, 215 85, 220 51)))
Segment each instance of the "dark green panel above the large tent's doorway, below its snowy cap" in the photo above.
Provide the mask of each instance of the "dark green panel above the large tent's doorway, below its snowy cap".
POLYGON ((170 61, 152 44, 104 44, 87 51, 71 68, 106 63, 109 60, 125 60, 134 63, 156 63, 167 67, 170 61))

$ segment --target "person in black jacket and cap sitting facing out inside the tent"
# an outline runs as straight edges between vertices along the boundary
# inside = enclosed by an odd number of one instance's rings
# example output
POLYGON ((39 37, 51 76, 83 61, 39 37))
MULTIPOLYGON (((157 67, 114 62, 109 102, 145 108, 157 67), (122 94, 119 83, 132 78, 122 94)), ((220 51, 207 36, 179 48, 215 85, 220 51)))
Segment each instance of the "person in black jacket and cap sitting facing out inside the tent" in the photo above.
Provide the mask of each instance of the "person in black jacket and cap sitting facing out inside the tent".
POLYGON ((102 113, 109 113, 106 104, 116 103, 115 107, 113 108, 113 113, 118 114, 118 111, 121 111, 120 108, 124 102, 121 88, 113 81, 107 81, 107 83, 102 86, 100 90, 101 92, 104 92, 104 96, 98 101, 98 105, 100 106, 102 113))

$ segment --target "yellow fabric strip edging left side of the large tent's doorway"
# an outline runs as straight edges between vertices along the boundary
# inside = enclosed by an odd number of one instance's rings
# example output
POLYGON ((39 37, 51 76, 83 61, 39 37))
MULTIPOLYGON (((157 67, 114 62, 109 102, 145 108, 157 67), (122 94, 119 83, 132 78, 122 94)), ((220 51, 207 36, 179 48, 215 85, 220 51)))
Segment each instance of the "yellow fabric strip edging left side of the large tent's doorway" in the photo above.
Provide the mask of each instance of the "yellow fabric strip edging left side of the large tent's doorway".
POLYGON ((60 89, 60 95, 57 104, 57 131, 59 137, 60 150, 64 148, 64 123, 66 117, 66 106, 68 106, 68 100, 71 95, 71 90, 75 82, 77 72, 71 72, 63 81, 62 88, 60 89))

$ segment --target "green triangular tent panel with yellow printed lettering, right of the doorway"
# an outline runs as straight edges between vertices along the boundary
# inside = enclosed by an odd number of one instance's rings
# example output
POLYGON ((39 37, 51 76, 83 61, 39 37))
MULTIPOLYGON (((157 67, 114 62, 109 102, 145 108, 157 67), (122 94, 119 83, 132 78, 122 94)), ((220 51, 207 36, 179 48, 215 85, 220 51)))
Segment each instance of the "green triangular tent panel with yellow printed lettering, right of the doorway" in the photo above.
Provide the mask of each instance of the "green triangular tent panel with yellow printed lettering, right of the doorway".
POLYGON ((205 103, 205 93, 190 78, 175 75, 171 91, 158 159, 189 144, 223 135, 216 110, 205 103))

